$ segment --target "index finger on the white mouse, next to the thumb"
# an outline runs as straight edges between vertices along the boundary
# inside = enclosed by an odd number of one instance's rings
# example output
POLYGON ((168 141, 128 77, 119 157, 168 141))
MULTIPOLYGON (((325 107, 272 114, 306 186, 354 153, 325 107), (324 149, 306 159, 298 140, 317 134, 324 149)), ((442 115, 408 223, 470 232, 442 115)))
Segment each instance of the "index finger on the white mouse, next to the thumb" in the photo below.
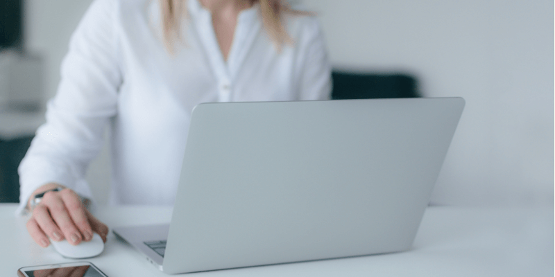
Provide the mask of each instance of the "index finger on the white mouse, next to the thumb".
POLYGON ((85 214, 85 206, 81 203, 79 196, 69 189, 60 191, 62 201, 67 208, 71 221, 77 226, 77 229, 83 234, 85 241, 92 239, 92 229, 85 214))

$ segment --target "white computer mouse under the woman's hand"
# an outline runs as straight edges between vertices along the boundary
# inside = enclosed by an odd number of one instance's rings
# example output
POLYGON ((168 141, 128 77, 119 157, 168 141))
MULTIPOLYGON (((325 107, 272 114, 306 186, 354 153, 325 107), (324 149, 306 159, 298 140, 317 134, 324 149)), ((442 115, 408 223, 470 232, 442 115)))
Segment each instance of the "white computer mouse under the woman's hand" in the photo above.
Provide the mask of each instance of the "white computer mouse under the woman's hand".
POLYGON ((83 259, 99 256, 104 250, 104 242, 99 234, 93 233, 92 240, 72 245, 67 240, 56 242, 51 240, 52 246, 65 258, 83 259))

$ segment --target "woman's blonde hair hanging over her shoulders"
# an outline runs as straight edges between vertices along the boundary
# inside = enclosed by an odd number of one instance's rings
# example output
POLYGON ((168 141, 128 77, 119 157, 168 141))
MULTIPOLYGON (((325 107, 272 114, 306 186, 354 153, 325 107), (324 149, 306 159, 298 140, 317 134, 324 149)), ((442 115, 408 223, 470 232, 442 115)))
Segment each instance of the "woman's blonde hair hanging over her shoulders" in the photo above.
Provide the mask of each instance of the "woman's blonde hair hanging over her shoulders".
MULTIPOLYGON (((180 40, 180 23, 187 16, 185 5, 187 0, 160 0, 162 10, 162 34, 164 44, 169 53, 173 53, 173 43, 180 40)), ((293 39, 287 34, 282 22, 282 15, 312 15, 311 12, 292 10, 284 0, 250 0, 251 4, 258 2, 264 29, 274 42, 278 50, 283 44, 292 44, 293 39)))

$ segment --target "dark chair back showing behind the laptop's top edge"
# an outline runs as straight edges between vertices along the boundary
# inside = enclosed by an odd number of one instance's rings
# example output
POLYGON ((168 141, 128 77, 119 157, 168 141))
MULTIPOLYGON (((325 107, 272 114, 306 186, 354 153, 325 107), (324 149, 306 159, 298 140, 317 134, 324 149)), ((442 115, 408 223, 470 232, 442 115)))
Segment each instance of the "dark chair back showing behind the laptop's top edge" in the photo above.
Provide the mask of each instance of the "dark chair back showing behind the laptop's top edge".
POLYGON ((404 73, 333 71, 332 99, 420 97, 416 78, 404 73))

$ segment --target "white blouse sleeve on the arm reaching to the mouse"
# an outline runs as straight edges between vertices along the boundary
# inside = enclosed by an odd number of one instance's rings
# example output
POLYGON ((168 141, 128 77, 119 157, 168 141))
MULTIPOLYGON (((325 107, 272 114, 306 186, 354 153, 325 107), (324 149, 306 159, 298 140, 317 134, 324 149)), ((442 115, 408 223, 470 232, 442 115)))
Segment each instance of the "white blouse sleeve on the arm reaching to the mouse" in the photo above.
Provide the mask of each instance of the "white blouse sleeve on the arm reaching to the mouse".
POLYGON ((101 150, 103 129, 117 113, 122 82, 114 3, 94 1, 71 37, 58 91, 47 104, 46 123, 37 130, 19 166, 17 213, 36 188, 49 182, 90 197, 85 168, 101 150))

